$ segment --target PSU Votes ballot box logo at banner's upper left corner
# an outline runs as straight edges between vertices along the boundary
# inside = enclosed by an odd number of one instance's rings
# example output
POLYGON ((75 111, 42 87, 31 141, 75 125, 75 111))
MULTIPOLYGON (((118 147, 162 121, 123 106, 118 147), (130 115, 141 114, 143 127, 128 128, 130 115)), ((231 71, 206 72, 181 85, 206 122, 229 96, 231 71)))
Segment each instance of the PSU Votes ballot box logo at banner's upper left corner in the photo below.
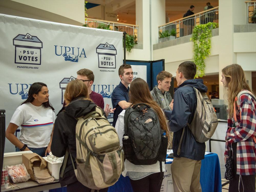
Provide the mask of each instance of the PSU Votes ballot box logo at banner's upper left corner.
POLYGON ((41 65, 43 43, 36 36, 19 34, 13 39, 15 63, 41 65))

